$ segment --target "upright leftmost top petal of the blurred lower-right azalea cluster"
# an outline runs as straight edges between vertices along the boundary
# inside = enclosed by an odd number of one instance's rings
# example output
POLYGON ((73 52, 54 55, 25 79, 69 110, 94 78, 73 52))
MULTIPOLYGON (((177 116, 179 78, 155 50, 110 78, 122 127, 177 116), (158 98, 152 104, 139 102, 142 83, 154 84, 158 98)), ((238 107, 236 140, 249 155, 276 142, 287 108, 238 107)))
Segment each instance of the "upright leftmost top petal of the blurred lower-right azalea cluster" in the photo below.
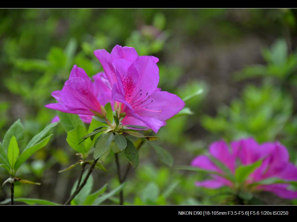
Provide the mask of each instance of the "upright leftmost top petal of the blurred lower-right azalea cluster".
POLYGON ((221 140, 219 142, 212 143, 210 145, 209 152, 212 156, 225 164, 231 172, 235 171, 236 156, 230 153, 228 144, 225 141, 221 140))

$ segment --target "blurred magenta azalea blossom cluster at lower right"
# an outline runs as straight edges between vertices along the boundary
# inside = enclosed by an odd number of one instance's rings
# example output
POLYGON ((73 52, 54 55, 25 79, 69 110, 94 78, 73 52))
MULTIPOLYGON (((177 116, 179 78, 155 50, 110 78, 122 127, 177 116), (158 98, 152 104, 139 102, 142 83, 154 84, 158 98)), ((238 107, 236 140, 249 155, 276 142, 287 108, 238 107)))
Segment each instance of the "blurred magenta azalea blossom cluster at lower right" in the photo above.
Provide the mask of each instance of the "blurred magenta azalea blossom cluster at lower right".
POLYGON ((205 181, 196 182, 196 186, 217 189, 228 186, 237 189, 236 181, 229 179, 226 172, 215 164, 214 159, 221 162, 236 176, 239 167, 260 163, 249 173, 243 186, 251 191, 269 191, 285 199, 297 198, 297 191, 291 182, 296 184, 297 167, 289 162, 289 154, 285 146, 279 142, 258 144, 254 139, 233 141, 230 148, 225 141, 214 142, 209 147, 211 156, 200 155, 193 159, 191 165, 211 171, 205 181))

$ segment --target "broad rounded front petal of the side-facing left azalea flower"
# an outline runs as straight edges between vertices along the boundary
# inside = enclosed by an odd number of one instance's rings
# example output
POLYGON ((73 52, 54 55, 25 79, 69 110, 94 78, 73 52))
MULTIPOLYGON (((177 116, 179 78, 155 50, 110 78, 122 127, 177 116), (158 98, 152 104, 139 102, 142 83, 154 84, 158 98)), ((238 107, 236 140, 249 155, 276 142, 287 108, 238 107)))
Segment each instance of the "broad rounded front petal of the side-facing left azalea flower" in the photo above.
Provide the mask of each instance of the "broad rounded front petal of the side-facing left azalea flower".
POLYGON ((61 100, 66 107, 87 110, 89 113, 77 113, 94 115, 91 110, 101 113, 100 104, 94 94, 91 92, 86 80, 75 77, 65 82, 61 91, 61 100))

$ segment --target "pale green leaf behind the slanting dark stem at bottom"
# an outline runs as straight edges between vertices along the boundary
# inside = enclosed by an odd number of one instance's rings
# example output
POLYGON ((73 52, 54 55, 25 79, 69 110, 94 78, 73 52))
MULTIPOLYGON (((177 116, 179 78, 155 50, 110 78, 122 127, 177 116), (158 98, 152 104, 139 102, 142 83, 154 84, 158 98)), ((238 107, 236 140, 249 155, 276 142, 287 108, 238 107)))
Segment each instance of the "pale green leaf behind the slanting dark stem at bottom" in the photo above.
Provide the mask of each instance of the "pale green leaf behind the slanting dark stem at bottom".
MULTIPOLYGON (((83 180, 86 178, 86 175, 88 174, 88 172, 86 171, 82 178, 81 178, 81 183, 83 182, 83 180)), ((75 181, 72 189, 71 189, 71 195, 74 193, 74 191, 76 190, 76 186, 77 186, 78 180, 75 181)), ((83 202, 85 202, 86 198, 89 196, 89 194, 91 193, 93 188, 93 177, 92 175, 89 176, 87 183, 85 186, 83 186, 83 188, 80 190, 80 192, 75 196, 75 198, 73 199, 75 201, 75 203, 77 205, 82 205, 83 202)), ((72 203, 72 202, 71 202, 72 203)))

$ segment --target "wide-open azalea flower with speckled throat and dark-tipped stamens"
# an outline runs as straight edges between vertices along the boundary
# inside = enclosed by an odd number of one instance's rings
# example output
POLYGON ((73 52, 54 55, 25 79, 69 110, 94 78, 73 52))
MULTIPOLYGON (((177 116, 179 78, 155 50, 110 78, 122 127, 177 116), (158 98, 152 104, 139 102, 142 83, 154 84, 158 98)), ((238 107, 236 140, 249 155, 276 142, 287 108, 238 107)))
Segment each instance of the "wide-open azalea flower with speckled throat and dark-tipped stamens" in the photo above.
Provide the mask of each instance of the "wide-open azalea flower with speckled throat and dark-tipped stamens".
POLYGON ((112 90, 112 98, 121 103, 125 112, 124 125, 142 125, 158 132, 165 120, 176 115, 184 102, 174 94, 160 91, 159 59, 152 56, 138 56, 131 47, 115 46, 109 54, 104 49, 94 52, 107 76, 102 81, 112 90))

